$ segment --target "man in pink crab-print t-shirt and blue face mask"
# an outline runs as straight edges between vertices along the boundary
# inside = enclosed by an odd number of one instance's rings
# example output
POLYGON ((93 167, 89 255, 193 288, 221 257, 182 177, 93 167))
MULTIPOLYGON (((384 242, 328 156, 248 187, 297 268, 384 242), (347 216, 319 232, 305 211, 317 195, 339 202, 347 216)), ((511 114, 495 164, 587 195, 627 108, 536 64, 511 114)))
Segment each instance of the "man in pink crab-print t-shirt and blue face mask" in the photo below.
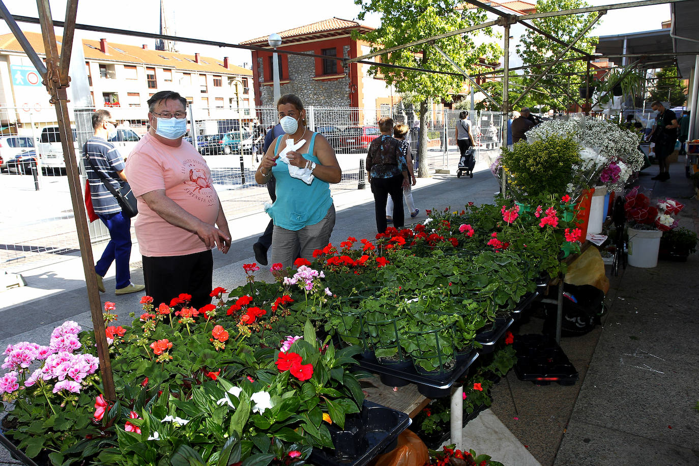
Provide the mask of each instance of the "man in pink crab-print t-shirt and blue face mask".
POLYGON ((131 152, 126 170, 138 198, 136 238, 145 292, 154 305, 187 293, 189 305, 199 309, 211 303, 211 249, 226 254, 231 234, 211 170, 182 140, 186 108, 187 100, 173 91, 148 99, 150 129, 131 152))

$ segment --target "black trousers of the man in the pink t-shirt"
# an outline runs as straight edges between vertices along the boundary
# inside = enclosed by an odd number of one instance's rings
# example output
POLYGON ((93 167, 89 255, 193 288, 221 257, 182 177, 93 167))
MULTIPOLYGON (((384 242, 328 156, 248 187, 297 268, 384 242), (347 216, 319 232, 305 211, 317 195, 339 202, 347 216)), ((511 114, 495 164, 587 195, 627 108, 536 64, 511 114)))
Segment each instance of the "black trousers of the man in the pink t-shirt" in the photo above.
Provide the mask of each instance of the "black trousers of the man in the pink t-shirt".
POLYGON ((153 305, 170 304, 170 300, 187 293, 192 295, 190 306, 200 309, 211 303, 214 259, 211 251, 186 256, 143 256, 145 293, 152 296, 153 305))

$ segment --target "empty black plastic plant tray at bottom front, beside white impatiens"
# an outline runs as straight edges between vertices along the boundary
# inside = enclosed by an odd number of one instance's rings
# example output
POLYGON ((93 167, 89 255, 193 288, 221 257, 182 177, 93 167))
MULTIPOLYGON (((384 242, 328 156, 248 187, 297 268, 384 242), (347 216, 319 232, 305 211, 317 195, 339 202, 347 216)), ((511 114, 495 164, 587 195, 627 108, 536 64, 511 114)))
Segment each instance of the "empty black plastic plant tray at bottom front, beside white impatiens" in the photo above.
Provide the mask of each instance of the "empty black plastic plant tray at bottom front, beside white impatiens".
POLYGON ((382 451, 396 447, 398 435, 412 421, 408 414, 364 400, 361 413, 345 417, 345 430, 331 425, 335 449, 313 449, 309 462, 317 466, 363 466, 382 451))

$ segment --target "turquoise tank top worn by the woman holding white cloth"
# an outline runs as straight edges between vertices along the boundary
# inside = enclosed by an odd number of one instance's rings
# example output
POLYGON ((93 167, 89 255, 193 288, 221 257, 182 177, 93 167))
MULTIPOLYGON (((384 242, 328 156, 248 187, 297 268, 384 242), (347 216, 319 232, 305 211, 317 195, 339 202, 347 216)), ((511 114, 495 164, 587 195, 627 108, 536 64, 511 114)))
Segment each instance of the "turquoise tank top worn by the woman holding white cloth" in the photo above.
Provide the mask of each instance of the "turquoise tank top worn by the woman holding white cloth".
MULTIPOLYGON (((315 136, 313 133, 308 147, 308 154, 303 157, 315 163, 320 163, 317 156, 313 155, 315 136)), ((282 138, 277 138, 274 153, 279 151, 282 138)), ((268 207, 267 214, 272 218, 276 226, 281 226, 291 231, 301 230, 304 226, 315 225, 325 218, 328 209, 333 205, 330 195, 330 184, 313 178, 311 184, 292 178, 289 175, 289 165, 278 161, 272 167, 272 174, 277 182, 277 201, 268 207)))

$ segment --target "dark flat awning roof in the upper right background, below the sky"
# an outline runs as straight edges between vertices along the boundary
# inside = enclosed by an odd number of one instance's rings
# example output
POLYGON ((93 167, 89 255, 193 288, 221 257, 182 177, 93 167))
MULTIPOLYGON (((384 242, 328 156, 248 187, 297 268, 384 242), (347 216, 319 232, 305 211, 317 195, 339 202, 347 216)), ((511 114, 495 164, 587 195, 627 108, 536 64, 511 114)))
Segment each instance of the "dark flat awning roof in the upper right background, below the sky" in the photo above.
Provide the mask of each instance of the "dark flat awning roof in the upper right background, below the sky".
POLYGON ((638 66, 645 68, 663 68, 675 64, 670 29, 600 36, 595 51, 602 54, 603 57, 611 59, 617 65, 628 64, 637 59, 642 59, 638 66), (624 42, 626 42, 626 52, 624 51, 624 42), (640 56, 626 57, 626 61, 624 61, 624 54, 649 54, 649 56, 644 58, 640 56))

